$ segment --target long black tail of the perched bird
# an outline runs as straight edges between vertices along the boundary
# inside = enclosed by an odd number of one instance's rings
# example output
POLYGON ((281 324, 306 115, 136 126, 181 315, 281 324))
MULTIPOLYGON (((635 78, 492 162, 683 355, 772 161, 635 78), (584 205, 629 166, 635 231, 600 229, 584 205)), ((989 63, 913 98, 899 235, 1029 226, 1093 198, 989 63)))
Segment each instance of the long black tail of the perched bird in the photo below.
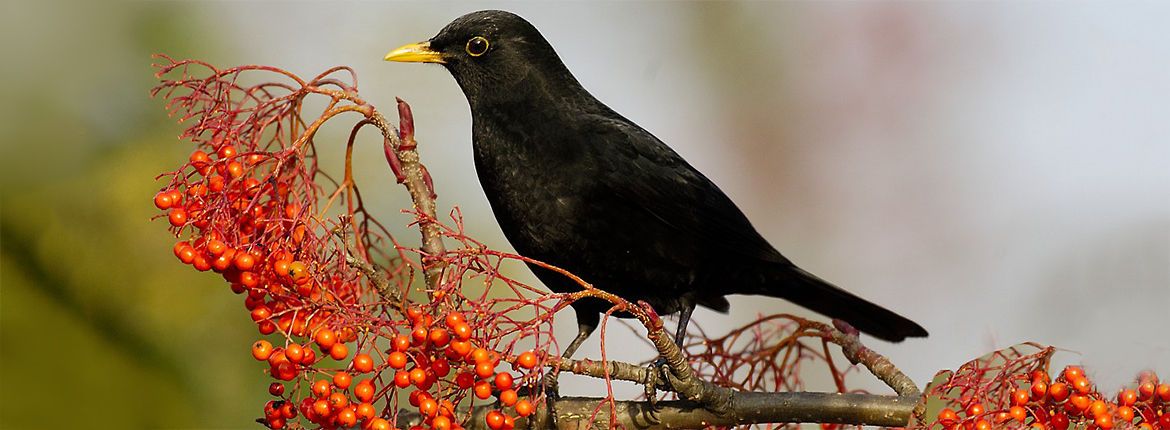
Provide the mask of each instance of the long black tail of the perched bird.
POLYGON ((830 318, 849 322, 874 338, 900 342, 906 338, 925 338, 927 330, 906 317, 869 303, 837 285, 830 284, 800 268, 790 265, 758 293, 784 298, 830 318))

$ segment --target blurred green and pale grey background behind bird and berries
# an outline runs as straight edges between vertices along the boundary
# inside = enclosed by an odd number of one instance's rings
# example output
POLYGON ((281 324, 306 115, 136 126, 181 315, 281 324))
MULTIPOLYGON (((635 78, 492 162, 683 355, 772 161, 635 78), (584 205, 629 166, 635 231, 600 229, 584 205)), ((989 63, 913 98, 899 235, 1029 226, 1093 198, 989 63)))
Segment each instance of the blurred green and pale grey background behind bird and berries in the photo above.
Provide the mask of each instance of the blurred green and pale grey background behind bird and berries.
MULTIPOLYGON (((482 8, 532 21, 794 262, 925 326, 869 342, 920 384, 1028 340, 1106 390, 1170 376, 1166 2, 18 0, 0 4, 0 428, 257 428, 267 383, 242 300, 176 262, 150 221, 154 175, 191 151, 147 97, 153 53, 353 67, 384 111, 412 103, 441 211, 510 249, 454 81, 381 61, 482 8)), ((339 154, 349 124, 319 148, 339 154)), ((405 223, 376 146, 359 181, 405 223)), ((775 312, 805 311, 741 297, 695 321, 721 333, 775 312)), ((633 345, 618 358, 649 356, 618 332, 608 345, 633 345)))

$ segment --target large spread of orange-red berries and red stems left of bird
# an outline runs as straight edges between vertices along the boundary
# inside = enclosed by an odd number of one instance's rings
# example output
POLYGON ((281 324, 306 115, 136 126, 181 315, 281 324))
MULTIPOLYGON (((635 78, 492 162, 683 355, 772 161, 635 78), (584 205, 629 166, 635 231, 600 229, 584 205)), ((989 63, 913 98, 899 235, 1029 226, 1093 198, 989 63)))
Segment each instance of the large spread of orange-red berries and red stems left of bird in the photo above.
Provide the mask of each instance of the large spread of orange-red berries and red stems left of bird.
MULTIPOLYGON (((172 113, 191 120, 183 138, 197 148, 178 169, 160 175, 168 183, 154 206, 180 238, 174 256, 194 270, 220 273, 243 296, 266 337, 252 345, 252 356, 267 363, 268 393, 275 397, 264 404, 261 423, 391 429, 402 425, 400 408, 408 402, 407 421, 420 423, 418 429, 460 429, 488 408, 486 424, 500 430, 535 411, 537 398, 521 398, 517 389, 539 380, 544 354, 510 354, 519 340, 543 337, 551 326, 515 324, 493 307, 497 299, 486 299, 487 291, 477 300, 463 297, 462 279, 476 275, 470 257, 453 262, 449 268, 461 271, 449 270, 441 285, 426 289, 429 300, 412 304, 422 258, 366 213, 349 168, 351 151, 340 180, 321 171, 315 130, 340 112, 364 115, 359 126, 376 116, 357 98, 356 83, 330 76, 351 70, 302 79, 268 67, 220 70, 198 61, 158 67, 163 84, 156 93, 168 99, 172 113), (172 72, 181 76, 164 78, 172 72), (294 83, 241 86, 254 81, 240 77, 246 72, 294 83), (319 117, 304 118, 303 99, 314 95, 332 103, 319 117), (501 321, 510 325, 502 328, 501 321)), ((413 131, 408 108, 399 108, 406 112, 400 138, 413 141, 406 134, 413 131)), ((494 271, 487 276, 517 289, 494 271)), ((514 303, 529 303, 516 294, 514 303)), ((548 345, 542 339, 537 348, 548 345)))

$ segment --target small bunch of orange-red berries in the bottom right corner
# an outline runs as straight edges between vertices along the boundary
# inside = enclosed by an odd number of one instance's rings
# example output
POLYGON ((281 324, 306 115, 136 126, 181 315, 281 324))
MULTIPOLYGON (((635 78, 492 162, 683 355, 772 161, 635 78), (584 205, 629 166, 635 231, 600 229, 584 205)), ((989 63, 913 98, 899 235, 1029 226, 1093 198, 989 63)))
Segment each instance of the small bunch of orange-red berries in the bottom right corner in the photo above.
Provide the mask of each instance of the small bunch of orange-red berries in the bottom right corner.
POLYGON ((961 410, 945 408, 937 424, 944 429, 1068 428, 1170 429, 1170 384, 1144 373, 1137 389, 1122 389, 1115 397, 1096 390, 1080 367, 1069 366, 1055 379, 1044 370, 1031 373, 1031 383, 1012 384, 1007 402, 971 397, 961 410), (990 405, 997 404, 998 408, 990 405))

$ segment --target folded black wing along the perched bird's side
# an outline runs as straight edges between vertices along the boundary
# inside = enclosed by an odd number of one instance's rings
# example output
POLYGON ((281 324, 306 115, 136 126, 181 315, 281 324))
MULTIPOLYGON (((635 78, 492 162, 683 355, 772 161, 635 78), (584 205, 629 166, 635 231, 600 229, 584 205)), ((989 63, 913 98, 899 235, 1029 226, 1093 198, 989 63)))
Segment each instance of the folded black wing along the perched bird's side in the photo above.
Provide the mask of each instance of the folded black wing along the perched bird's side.
POLYGON ((597 150, 608 162, 599 172, 603 188, 713 251, 791 264, 723 190, 656 137, 627 120, 591 119, 591 140, 601 143, 597 150))

